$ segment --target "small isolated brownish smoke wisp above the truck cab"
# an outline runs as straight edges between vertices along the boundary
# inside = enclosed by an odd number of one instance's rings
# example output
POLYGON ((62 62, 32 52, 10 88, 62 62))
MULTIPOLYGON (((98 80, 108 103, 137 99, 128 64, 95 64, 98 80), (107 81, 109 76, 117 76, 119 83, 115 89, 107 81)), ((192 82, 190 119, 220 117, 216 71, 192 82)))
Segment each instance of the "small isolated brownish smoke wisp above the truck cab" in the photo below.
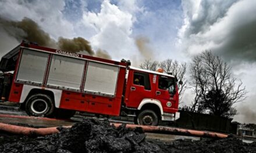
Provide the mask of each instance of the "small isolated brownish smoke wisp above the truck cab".
POLYGON ((151 59, 153 57, 153 50, 150 47, 150 39, 146 37, 138 37, 136 39, 136 46, 144 59, 151 59))

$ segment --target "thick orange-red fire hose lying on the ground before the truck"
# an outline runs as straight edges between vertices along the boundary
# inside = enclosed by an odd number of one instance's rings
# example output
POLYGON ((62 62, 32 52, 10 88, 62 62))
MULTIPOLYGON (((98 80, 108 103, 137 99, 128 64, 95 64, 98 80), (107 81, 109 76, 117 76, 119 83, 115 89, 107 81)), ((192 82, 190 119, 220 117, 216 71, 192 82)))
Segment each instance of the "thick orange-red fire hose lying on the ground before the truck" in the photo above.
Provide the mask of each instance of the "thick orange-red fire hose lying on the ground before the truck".
MULTIPOLYGON (((111 125, 118 128, 122 123, 111 123, 111 125)), ((72 126, 63 126, 64 128, 71 128, 72 126)), ((216 133, 216 132, 205 132, 200 130, 189 130, 189 129, 180 129, 180 128, 169 128, 169 127, 160 127, 160 126, 143 126, 143 125, 131 125, 126 124, 126 128, 135 129, 142 128, 146 133, 161 133, 161 134, 175 134, 182 136, 194 136, 194 137, 211 137, 211 138, 225 138, 228 134, 216 133)), ((6 123, 0 123, 0 130, 13 134, 20 135, 38 135, 45 136, 49 134, 58 133, 59 130, 57 127, 52 128, 28 128, 24 126, 9 125, 6 123)))

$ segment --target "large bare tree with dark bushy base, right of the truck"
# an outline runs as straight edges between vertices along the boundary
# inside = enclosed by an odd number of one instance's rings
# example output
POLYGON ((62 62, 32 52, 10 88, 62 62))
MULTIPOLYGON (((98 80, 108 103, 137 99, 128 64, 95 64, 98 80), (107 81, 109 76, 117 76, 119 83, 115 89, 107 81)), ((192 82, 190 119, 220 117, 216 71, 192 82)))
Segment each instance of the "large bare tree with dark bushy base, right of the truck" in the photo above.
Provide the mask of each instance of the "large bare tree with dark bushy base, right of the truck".
POLYGON ((192 60, 190 73, 195 99, 192 110, 209 110, 214 115, 231 117, 236 114, 234 103, 246 99, 246 88, 231 76, 230 66, 206 50, 192 60))

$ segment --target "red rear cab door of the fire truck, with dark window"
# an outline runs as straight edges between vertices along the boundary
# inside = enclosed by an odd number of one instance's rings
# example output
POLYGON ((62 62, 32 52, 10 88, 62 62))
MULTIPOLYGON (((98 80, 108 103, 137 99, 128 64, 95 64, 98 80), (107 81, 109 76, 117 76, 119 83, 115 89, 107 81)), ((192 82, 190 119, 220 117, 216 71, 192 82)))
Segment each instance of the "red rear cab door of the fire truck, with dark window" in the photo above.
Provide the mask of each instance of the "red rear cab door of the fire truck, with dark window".
POLYGON ((130 70, 126 87, 126 106, 137 108, 140 102, 145 99, 154 98, 151 89, 150 74, 137 70, 130 70))

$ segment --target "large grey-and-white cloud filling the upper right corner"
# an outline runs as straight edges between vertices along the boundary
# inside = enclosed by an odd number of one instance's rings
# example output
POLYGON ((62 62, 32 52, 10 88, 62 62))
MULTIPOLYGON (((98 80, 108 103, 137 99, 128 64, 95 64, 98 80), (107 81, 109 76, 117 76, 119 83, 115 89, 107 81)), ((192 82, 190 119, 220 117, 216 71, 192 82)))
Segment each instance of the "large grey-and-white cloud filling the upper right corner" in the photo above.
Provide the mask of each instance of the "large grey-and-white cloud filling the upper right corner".
POLYGON ((188 7, 188 3, 183 2, 186 13, 179 30, 179 46, 184 52, 196 54, 211 49, 226 59, 234 58, 234 54, 246 60, 256 57, 250 53, 256 49, 256 1, 200 1, 199 8, 188 7), (241 54, 242 50, 247 54, 241 54))

